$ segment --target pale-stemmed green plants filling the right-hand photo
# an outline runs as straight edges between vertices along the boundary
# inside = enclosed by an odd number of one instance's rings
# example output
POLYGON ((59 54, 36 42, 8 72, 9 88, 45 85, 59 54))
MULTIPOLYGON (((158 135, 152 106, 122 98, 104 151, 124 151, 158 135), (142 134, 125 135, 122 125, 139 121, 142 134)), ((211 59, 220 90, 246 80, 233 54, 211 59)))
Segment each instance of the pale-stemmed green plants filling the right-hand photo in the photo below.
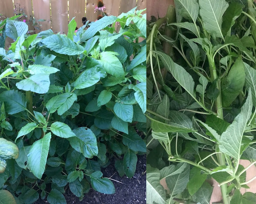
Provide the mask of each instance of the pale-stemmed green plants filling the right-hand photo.
POLYGON ((221 203, 255 203, 255 3, 174 2, 148 22, 147 203, 209 204, 212 179, 221 203))

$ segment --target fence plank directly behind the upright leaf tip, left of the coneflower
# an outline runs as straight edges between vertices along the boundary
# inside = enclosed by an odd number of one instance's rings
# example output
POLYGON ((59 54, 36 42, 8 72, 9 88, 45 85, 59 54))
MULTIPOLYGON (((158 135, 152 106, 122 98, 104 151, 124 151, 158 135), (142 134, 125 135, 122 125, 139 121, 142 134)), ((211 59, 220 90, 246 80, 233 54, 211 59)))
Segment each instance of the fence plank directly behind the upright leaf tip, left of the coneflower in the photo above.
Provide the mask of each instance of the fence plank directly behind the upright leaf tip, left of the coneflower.
POLYGON ((85 0, 70 0, 68 12, 69 20, 71 21, 73 17, 76 17, 77 27, 81 27, 82 17, 85 16, 85 0))

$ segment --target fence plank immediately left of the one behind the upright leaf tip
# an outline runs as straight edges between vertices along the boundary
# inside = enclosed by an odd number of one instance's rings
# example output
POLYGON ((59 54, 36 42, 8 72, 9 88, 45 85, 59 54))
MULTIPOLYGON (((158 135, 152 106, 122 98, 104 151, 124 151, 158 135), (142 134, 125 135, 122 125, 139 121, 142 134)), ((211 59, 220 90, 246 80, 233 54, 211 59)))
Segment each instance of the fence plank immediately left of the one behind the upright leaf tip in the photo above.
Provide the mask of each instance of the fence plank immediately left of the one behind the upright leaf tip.
MULTIPOLYGON (((52 30, 54 33, 68 33, 68 0, 52 0, 52 30)), ((71 18, 72 19, 72 18, 71 18)), ((71 20, 70 19, 70 20, 71 20)))

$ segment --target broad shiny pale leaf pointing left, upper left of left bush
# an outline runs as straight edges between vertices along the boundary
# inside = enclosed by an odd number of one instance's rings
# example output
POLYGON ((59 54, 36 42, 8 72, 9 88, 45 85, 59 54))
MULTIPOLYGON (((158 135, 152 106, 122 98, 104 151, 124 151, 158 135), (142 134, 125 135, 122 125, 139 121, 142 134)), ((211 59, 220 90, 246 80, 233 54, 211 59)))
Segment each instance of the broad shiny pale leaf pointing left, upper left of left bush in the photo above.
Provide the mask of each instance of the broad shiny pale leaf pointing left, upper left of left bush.
POLYGON ((45 94, 49 90, 50 78, 48 74, 37 74, 16 83, 18 89, 45 94))

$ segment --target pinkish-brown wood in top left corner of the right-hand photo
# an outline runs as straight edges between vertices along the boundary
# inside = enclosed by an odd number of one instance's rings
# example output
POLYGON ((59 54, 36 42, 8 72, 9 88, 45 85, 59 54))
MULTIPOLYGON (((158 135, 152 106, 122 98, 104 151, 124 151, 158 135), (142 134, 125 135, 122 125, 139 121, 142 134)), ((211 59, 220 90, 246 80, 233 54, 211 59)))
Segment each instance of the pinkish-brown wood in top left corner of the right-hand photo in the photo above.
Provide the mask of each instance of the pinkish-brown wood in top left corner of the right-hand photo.
POLYGON ((161 3, 155 0, 147 0, 147 20, 150 20, 151 16, 164 17, 170 4, 174 5, 174 0, 161 0, 161 3))

